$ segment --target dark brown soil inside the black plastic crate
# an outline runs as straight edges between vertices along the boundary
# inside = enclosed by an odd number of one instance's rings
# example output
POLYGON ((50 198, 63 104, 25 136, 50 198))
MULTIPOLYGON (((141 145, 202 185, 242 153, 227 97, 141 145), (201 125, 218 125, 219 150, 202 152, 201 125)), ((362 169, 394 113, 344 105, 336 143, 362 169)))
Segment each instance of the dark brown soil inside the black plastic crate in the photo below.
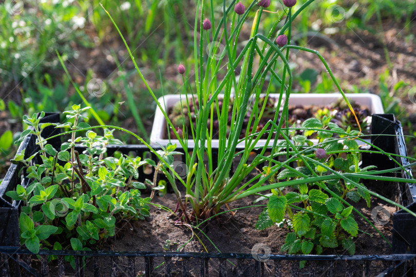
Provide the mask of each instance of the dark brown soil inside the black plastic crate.
MULTIPOLYGON (((381 188, 375 181, 371 184, 366 184, 370 189, 379 193, 387 193, 385 196, 391 200, 395 200, 396 189, 390 187, 388 189, 381 188)), ((182 193, 184 194, 184 193, 182 193)), ((229 205, 230 209, 247 207, 253 205, 253 201, 257 196, 250 196, 246 199, 242 199, 229 205)), ((168 193, 163 197, 155 196, 155 204, 163 205, 172 210, 176 207, 176 197, 173 193, 168 193)), ((264 205, 266 201, 254 204, 264 205)), ((375 197, 371 197, 371 207, 368 208, 365 201, 360 201, 356 204, 356 208, 362 212, 367 219, 372 223, 371 211, 376 206, 382 206, 387 209, 391 214, 396 211, 395 207, 387 204, 384 201, 378 200, 375 197)), ((287 229, 278 228, 272 226, 266 230, 256 230, 255 224, 258 219, 258 215, 263 210, 263 207, 251 207, 238 210, 234 215, 231 213, 221 214, 215 219, 203 224, 200 229, 209 238, 198 231, 194 230, 194 234, 190 228, 186 225, 175 224, 176 218, 172 216, 172 213, 152 207, 150 216, 145 221, 130 222, 130 224, 123 224, 124 228, 119 229, 115 237, 110 238, 106 241, 103 250, 116 250, 116 251, 152 251, 152 252, 163 252, 163 244, 166 240, 171 241, 171 248, 169 251, 176 251, 182 245, 186 244, 180 249, 181 252, 218 252, 216 247, 223 253, 251 253, 252 248, 255 244, 261 243, 271 249, 272 254, 285 254, 280 252, 280 247, 283 245, 288 233, 287 229), (200 241, 199 241, 200 240, 200 241), (212 241, 212 243, 210 242, 212 241), (203 245, 202 245, 202 243, 203 245), (213 245, 215 244, 215 246, 213 245), (205 249, 205 248, 206 249, 205 249)), ((355 254, 362 255, 387 255, 391 254, 391 248, 388 243, 378 234, 368 223, 361 217, 354 214, 355 220, 358 223, 358 227, 363 232, 358 232, 357 237, 354 239, 356 245, 355 254), (368 233, 368 234, 366 234, 368 233)), ((385 225, 376 225, 386 239, 391 243, 391 232, 392 232, 392 221, 388 221, 385 225)), ((313 254, 312 252, 311 254, 313 254)), ((327 249, 323 255, 348 255, 345 250, 338 249, 327 249)), ((34 257, 33 257, 34 258, 34 257)), ((116 258, 119 272, 126 272, 128 269, 127 258, 116 258)), ((241 260, 240 260, 241 261, 241 260)), ((237 272, 237 265, 240 261, 237 259, 230 259, 227 262, 227 270, 229 276, 237 276, 241 274, 237 272)), ((100 270, 105 275, 105 272, 110 271, 110 259, 101 258, 100 270)), ((164 272, 163 258, 154 259, 155 273, 163 276, 164 272)), ((243 261, 241 267, 242 274, 244 276, 254 275, 254 260, 243 261)), ((55 262, 54 262, 55 263, 55 262)), ((51 270, 57 271, 56 264, 52 263, 50 266, 51 270)), ((141 274, 144 272, 144 259, 135 258, 135 272, 141 274)), ((178 272, 178 276, 181 275, 183 260, 181 258, 172 259, 173 272, 178 272)), ((198 259, 191 258, 188 263, 190 268, 191 276, 199 276, 200 261, 198 259)), ((330 264, 333 263, 333 274, 335 276, 363 276, 363 270, 365 263, 361 261, 333 261, 333 262, 307 262, 304 269, 299 270, 298 261, 272 261, 265 262, 266 276, 273 276, 275 266, 279 266, 279 271, 282 276, 292 276, 296 273, 302 275, 310 275, 311 272, 321 274, 323 276, 328 275, 330 264)), ((391 266, 391 263, 384 263, 373 261, 370 263, 367 269, 371 276, 377 275, 387 267, 391 266)), ((218 260, 211 259, 209 262, 210 275, 217 276, 218 272, 218 260)), ((67 265, 69 269, 69 265, 67 265)), ((85 276, 92 276, 92 262, 88 261, 86 264, 85 276)), ((175 274, 174 274, 175 275, 175 274)), ((68 274, 70 276, 70 274, 68 274)), ((119 276, 123 276, 123 273, 119 273, 119 276)))

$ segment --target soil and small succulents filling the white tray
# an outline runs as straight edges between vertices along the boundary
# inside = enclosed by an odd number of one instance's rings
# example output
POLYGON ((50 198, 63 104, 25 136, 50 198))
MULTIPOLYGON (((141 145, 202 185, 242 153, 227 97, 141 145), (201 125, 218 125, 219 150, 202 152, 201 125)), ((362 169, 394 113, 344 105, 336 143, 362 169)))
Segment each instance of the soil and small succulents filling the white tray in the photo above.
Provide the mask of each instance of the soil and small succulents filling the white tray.
MULTIPOLYGON (((192 99, 192 98, 191 98, 192 99)), ((229 106, 229 115, 228 115, 228 127, 227 129, 230 129, 231 126, 231 122, 233 121, 232 118, 232 104, 233 99, 231 100, 231 104, 229 106)), ((253 100, 254 102, 254 100, 253 100)), ((264 98, 260 98, 259 101, 259 111, 258 113, 260 113, 260 109, 263 105, 264 102, 264 98)), ((247 115, 245 115, 244 118, 244 122, 243 122, 243 126, 241 129, 241 135, 240 138, 244 138, 245 136, 245 132, 247 131, 247 129, 250 130, 250 132, 259 132, 261 131, 261 129, 264 127, 264 125, 266 125, 266 123, 270 120, 273 120, 274 118, 274 114, 276 112, 276 107, 277 107, 277 102, 278 102, 278 98, 274 98, 274 97, 269 97, 266 103, 266 107, 264 108, 264 112, 262 114, 261 120, 258 123, 258 126, 256 128, 256 130, 253 131, 253 123, 254 123, 254 118, 249 126, 249 121, 250 121, 250 116, 251 116, 251 110, 253 109, 253 104, 250 105, 249 110, 247 112, 247 115)), ((354 112, 357 115, 358 121, 360 122, 360 124, 362 125, 362 130, 364 132, 364 134, 369 134, 370 130, 369 130, 369 124, 366 120, 367 116, 370 116, 370 112, 368 110, 367 107, 361 106, 356 104, 353 101, 350 101, 351 105, 354 109, 354 112)), ((189 110, 187 108, 187 103, 186 100, 184 99, 184 97, 182 98, 182 107, 181 107, 181 102, 178 102, 175 106, 173 106, 172 108, 169 108, 167 111, 167 115, 169 117, 169 119, 172 121, 173 125, 175 126, 175 130, 177 130, 179 132, 179 134, 181 134, 183 132, 182 128, 183 126, 185 126, 185 132, 187 132, 188 134, 188 138, 192 140, 192 132, 190 129, 190 118, 192 121, 192 124, 194 125, 194 127, 196 126, 196 117, 195 117, 195 110, 199 109, 199 104, 198 104, 198 100, 195 100, 195 105, 194 102, 192 100, 190 100, 189 102, 189 110), (182 114, 183 113, 183 114, 182 114)), ((282 102, 283 105, 284 102, 282 102)), ((219 110, 221 111, 222 109, 222 100, 218 101, 218 106, 219 106, 219 110)), ((292 127, 293 124, 295 124, 296 127, 300 127, 301 123, 304 122, 305 120, 307 120, 308 118, 314 117, 317 113, 318 110, 324 110, 324 109, 328 109, 329 112, 332 115, 332 120, 331 122, 337 124, 339 127, 347 127, 347 126, 351 126, 352 130, 359 130, 358 125, 355 121, 355 117, 353 116, 352 112, 350 111, 350 109, 348 108, 348 106, 346 105, 346 103, 344 102, 344 99, 341 98, 341 100, 331 104, 331 105, 327 105, 327 106, 306 106, 306 105, 291 105, 288 107, 288 114, 289 114, 289 118, 288 118, 288 125, 289 127, 292 127)), ((219 122, 218 122, 218 115, 216 110, 216 106, 214 107, 214 114, 213 114, 213 139, 218 140, 219 137, 219 122)), ((211 113, 210 113, 211 114, 211 113)), ((281 116, 281 111, 279 112, 279 118, 281 116)), ((209 116, 209 118, 211 118, 211 115, 209 116)), ((234 118, 234 121, 236 119, 234 118)), ((277 121, 278 122, 278 121, 277 121)), ((286 123, 283 123, 283 128, 286 127, 286 123)), ((211 128, 211 120, 209 119, 208 123, 207 123, 207 128, 210 129, 211 128)), ((269 128, 270 129, 270 128, 269 128)), ((301 134, 301 131, 297 131, 296 134, 301 134)), ((173 130, 171 130, 170 133, 171 137, 175 137, 175 133, 173 132, 173 130)), ((264 134, 261 138, 262 139, 266 139, 268 136, 268 134, 264 134)), ((274 136, 273 136, 274 137, 274 136)), ((313 138, 313 136, 311 136, 310 138, 313 138)), ((168 139, 168 135, 165 132, 164 134, 164 139, 168 139)))

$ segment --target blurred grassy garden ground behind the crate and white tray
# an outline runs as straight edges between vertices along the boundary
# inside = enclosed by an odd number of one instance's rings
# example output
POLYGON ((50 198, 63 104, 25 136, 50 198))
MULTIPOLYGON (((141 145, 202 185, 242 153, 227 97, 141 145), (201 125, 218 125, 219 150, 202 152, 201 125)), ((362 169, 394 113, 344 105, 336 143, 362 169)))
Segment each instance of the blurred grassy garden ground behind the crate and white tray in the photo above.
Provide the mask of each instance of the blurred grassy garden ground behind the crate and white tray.
MULTIPOLYGON (((302 1, 298 0, 297 5, 302 1)), ((135 74, 100 2, 117 22, 158 96, 179 93, 179 63, 192 76, 195 1, 5 1, 0 4, 0 177, 16 150, 12 142, 26 128, 21 122, 24 114, 62 112, 82 103, 56 51, 62 56, 70 78, 105 123, 148 138, 156 105, 135 74)), ((211 2, 205 1, 205 5, 211 7, 211 2)), ((222 1, 212 1, 212 5, 220 17, 222 1)), ((281 12, 281 5, 272 0, 268 10, 281 12)), ((264 29, 273 24, 273 16, 263 18, 264 29)), ((416 4, 412 0, 316 0, 294 22, 293 41, 326 53, 326 58, 333 58, 335 63, 341 59, 352 66, 354 61, 364 64, 361 71, 356 70, 355 77, 347 78, 347 73, 335 70, 346 92, 379 94, 385 111, 402 120, 406 134, 416 135, 416 105, 409 101, 411 92, 416 94, 416 76, 410 74, 415 67, 413 63, 398 61, 403 59, 402 52, 405 60, 415 57, 415 18, 416 4), (347 48, 349 52, 345 51, 347 48), (371 53, 367 60, 375 63, 369 69, 359 55, 366 50, 371 53), (366 70, 373 72, 360 75, 366 70)), ((250 27, 242 31, 247 36, 250 27)), ((312 60, 308 62, 307 55, 295 55, 291 65, 297 92, 335 91, 326 72, 314 67, 312 60)), ((93 116, 89 117, 90 124, 94 124, 93 116)), ((128 136, 121 139, 134 143, 128 136)), ((413 140, 408 138, 407 142, 409 152, 414 155, 413 140)))

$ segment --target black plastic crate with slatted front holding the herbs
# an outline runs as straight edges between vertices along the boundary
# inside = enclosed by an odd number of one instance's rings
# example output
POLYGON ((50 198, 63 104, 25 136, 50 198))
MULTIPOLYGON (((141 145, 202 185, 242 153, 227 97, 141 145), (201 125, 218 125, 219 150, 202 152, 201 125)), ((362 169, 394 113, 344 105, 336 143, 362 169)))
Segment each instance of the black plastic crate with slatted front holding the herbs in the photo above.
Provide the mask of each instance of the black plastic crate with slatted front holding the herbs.
MULTIPOLYGON (((59 113, 47 113, 42 118, 44 122, 59 122, 59 113)), ((396 121, 392 114, 374 114, 372 116, 372 134, 380 134, 380 136, 372 136, 372 143, 380 147, 386 152, 397 153, 403 156, 407 155, 406 146, 404 143, 403 129, 399 121, 396 121), (388 134, 390 136, 383 136, 388 134)), ((49 137, 59 131, 53 127, 48 127, 42 134, 44 137, 49 137)), ((53 138, 49 141, 56 149, 60 149, 60 137, 53 138)), ((37 151, 35 145, 35 137, 28 136, 18 149, 20 153, 26 149, 25 156, 37 151)), ((83 147, 78 146, 77 150, 82 152, 83 147)), ((158 150, 158 149, 156 149, 158 150)), ((192 149, 189 149, 192 151, 192 149)), ((236 149, 242 151, 243 149, 236 149)), ((120 151, 124 154, 134 152, 134 154, 148 157, 156 160, 156 155, 148 150, 144 145, 125 145, 125 146, 108 146, 107 153, 109 155, 120 151)), ((181 151, 178 149, 178 151, 181 151)), ((213 160, 216 161, 216 154, 214 150, 213 160)), ((184 155, 182 155, 183 157, 184 155)), ((411 169, 408 167, 409 161, 402 157, 395 158, 400 162, 404 168, 409 169, 408 172, 392 173, 392 176, 400 175, 408 179, 412 178, 411 169)), ((371 164, 377 166, 378 169, 391 168, 395 166, 393 161, 388 157, 379 154, 363 153, 363 164, 370 161, 371 164)), ((313 267, 316 272, 312 275, 333 275, 333 268, 336 263, 362 263, 363 272, 360 275, 373 275, 371 268, 377 268, 378 276, 387 276, 393 273, 407 276, 414 276, 416 273, 414 263, 416 261, 416 240, 412 239, 413 233, 416 231, 416 218, 407 212, 400 210, 393 216, 393 255, 270 255, 269 261, 266 263, 258 262, 252 254, 236 254, 236 253, 185 253, 185 252, 138 252, 138 251, 49 251, 41 250, 40 260, 37 267, 30 266, 30 257, 34 257, 28 250, 24 250, 19 245, 19 230, 18 230, 18 210, 20 203, 11 201, 5 195, 8 190, 14 189, 17 184, 26 185, 28 180, 19 174, 22 167, 20 165, 12 165, 0 185, 0 253, 2 261, 0 262, 0 275, 48 275, 48 255, 57 255, 58 261, 57 270, 59 275, 65 274, 65 255, 75 256, 75 276, 93 275, 93 276, 118 276, 128 275, 136 276, 137 270, 146 275, 165 275, 172 276, 173 272, 178 275, 188 276, 190 272, 196 275, 206 276, 209 268, 214 268, 220 276, 230 275, 275 275, 279 276, 279 270, 282 263, 292 263, 293 269, 291 275, 299 275, 298 262, 307 260, 313 262, 313 267), (90 267, 84 268, 82 266, 82 259, 88 258, 90 267), (125 264, 125 271, 120 270, 117 266, 120 263, 120 258, 123 258, 125 264), (138 260, 139 259, 139 260, 138 260), (230 266, 229 261, 233 261, 235 267, 230 266), (295 262, 291 262, 295 261, 295 262), (160 262, 164 262, 163 268, 160 269, 160 262), (376 264, 375 264, 376 263, 376 264), (380 264, 381 263, 381 264, 380 264), (154 267, 157 268, 154 268, 154 267), (266 270, 273 268, 273 272, 266 270), (104 271, 104 267, 108 267, 104 271), (232 268, 230 268, 232 267, 232 268), (325 267, 325 270, 322 270, 325 267), (158 270, 157 270, 158 269, 158 270), (86 272, 84 272, 86 270, 86 272), (322 271, 322 272, 321 272, 322 271), (319 273, 320 272, 320 273, 319 273), (85 274, 84 274, 85 273, 85 274)), ((140 168, 141 179, 152 179, 152 172, 143 172, 140 168), (147 174, 146 174, 147 173, 147 174)), ((25 172, 22 172, 23 176, 25 172)), ((392 185, 389 183, 388 185, 392 185)), ((392 190, 397 190, 400 195, 401 204, 407 206, 412 211, 416 211, 416 188, 408 183, 397 184, 393 183, 392 190)), ((49 265, 52 266, 52 265, 49 265)), ((68 269, 68 266, 67 266, 68 269)))

